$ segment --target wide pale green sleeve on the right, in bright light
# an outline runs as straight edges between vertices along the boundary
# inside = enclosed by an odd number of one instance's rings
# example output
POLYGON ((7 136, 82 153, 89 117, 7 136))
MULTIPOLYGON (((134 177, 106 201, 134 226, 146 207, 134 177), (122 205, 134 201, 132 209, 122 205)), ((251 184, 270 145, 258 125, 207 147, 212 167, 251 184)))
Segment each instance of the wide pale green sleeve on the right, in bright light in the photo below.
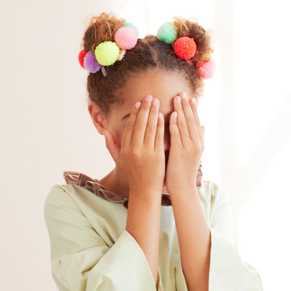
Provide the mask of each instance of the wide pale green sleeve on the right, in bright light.
MULTIPOLYGON (((260 275, 245 262, 232 239, 232 206, 225 185, 218 188, 221 195, 215 205, 210 223, 211 251, 209 291, 263 291, 260 275)), ((182 271, 181 258, 175 267, 177 291, 188 291, 182 271)))

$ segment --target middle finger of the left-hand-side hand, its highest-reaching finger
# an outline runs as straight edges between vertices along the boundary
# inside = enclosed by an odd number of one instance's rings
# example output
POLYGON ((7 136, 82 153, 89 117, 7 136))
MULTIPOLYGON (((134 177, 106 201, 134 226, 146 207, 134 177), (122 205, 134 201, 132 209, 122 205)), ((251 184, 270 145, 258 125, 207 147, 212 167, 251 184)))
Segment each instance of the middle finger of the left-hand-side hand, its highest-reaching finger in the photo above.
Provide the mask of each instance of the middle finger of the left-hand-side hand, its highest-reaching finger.
POLYGON ((141 109, 137 115, 132 136, 132 144, 140 146, 144 142, 145 130, 148 124, 148 116, 150 114, 150 107, 152 104, 152 96, 147 95, 141 104, 141 109))

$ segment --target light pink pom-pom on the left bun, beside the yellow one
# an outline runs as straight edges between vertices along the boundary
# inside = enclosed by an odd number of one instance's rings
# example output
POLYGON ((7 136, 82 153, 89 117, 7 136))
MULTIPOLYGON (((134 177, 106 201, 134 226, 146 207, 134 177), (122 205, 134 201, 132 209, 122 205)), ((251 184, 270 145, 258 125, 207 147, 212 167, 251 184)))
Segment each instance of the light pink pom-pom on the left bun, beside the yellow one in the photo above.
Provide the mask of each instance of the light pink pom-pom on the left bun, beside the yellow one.
POLYGON ((120 27, 114 34, 114 40, 120 49, 132 49, 137 42, 136 31, 131 27, 120 27))

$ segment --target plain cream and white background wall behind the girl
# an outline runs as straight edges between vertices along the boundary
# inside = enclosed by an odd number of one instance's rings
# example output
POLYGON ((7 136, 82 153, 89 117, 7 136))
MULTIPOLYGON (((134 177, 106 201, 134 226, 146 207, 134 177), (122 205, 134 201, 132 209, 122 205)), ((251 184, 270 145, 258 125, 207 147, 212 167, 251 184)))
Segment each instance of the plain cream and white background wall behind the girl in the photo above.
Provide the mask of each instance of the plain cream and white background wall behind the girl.
POLYGON ((225 184, 235 244, 265 291, 290 274, 290 7, 286 1, 1 1, 2 290, 57 290, 46 195, 63 171, 101 179, 114 162, 86 104, 86 21, 115 12, 155 34, 174 16, 212 30, 217 70, 198 114, 203 180, 225 184), (85 21, 85 22, 84 22, 85 21), (84 22, 84 24, 83 24, 84 22))

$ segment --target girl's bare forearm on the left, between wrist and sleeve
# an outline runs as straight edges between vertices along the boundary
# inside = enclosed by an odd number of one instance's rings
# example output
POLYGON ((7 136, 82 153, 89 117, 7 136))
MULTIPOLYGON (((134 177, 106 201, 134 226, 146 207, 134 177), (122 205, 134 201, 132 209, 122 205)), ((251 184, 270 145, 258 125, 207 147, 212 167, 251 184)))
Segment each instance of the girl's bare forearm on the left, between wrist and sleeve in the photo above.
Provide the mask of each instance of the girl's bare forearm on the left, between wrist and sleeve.
POLYGON ((130 190, 126 230, 143 250, 157 285, 162 195, 137 191, 130 190))

